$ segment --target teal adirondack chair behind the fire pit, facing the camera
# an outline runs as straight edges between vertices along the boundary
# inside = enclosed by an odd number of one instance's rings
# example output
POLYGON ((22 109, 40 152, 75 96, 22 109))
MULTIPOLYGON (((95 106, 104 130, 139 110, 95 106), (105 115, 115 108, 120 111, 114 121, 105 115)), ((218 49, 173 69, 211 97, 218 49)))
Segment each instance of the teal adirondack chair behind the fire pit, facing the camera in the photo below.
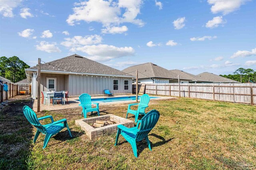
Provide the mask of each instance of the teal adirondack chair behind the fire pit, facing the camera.
POLYGON ((93 111, 97 111, 98 115, 100 115, 100 109, 99 109, 99 104, 98 103, 92 103, 91 102, 91 96, 89 94, 81 94, 79 96, 79 101, 81 104, 79 104, 79 106, 82 106, 83 111, 82 111, 82 116, 84 114, 84 118, 86 118, 87 112, 91 113, 93 111), (96 107, 92 107, 92 104, 96 104, 96 107))

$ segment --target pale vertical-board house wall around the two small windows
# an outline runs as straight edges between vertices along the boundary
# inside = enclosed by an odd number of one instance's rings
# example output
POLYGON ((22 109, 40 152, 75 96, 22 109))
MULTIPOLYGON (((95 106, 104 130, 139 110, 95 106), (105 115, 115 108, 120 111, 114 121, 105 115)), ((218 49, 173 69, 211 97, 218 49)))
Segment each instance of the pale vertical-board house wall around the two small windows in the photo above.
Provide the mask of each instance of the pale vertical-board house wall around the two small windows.
POLYGON ((132 78, 69 75, 69 96, 79 96, 83 93, 102 95, 106 89, 113 94, 132 93, 132 78), (113 90, 113 80, 118 80, 118 90, 113 90), (129 80, 129 90, 124 90, 124 80, 129 80))

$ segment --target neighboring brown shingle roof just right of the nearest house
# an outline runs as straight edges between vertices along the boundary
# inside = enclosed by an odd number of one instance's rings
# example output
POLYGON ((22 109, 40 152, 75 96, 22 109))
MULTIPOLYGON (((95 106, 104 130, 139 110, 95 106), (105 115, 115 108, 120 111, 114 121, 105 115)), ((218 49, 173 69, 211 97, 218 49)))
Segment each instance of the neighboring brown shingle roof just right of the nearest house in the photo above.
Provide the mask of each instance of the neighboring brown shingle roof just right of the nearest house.
POLYGON ((144 63, 135 66, 130 66, 122 70, 128 74, 136 76, 136 70, 138 69, 138 78, 166 78, 166 79, 178 79, 178 74, 170 72, 169 70, 162 68, 153 63, 144 63))

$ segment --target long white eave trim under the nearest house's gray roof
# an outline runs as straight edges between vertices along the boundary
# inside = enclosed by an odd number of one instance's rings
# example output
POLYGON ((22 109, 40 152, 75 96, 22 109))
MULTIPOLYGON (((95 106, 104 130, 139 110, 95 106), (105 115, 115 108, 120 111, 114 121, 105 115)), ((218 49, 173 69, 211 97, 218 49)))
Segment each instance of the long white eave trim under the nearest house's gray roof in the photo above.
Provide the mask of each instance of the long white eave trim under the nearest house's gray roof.
MULTIPOLYGON (((37 72, 37 69, 25 69, 30 72, 37 72)), ((66 72, 66 71, 52 71, 52 70, 41 70, 41 73, 55 73, 55 74, 79 74, 79 75, 90 75, 90 76, 112 76, 112 77, 126 77, 126 78, 135 78, 134 76, 125 76, 125 75, 112 75, 112 74, 95 74, 95 73, 86 73, 86 72, 66 72)))

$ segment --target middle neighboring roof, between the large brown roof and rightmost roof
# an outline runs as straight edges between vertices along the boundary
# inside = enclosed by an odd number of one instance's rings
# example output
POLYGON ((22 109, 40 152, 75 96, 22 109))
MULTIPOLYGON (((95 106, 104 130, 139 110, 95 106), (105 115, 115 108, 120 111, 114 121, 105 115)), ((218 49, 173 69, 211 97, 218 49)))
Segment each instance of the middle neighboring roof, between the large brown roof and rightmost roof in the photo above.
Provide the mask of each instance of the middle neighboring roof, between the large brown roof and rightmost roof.
POLYGON ((180 77, 188 79, 189 83, 212 83, 212 81, 204 79, 200 76, 196 76, 194 74, 190 74, 188 72, 184 72, 182 70, 170 70, 170 72, 174 72, 176 74, 179 74, 180 77))

